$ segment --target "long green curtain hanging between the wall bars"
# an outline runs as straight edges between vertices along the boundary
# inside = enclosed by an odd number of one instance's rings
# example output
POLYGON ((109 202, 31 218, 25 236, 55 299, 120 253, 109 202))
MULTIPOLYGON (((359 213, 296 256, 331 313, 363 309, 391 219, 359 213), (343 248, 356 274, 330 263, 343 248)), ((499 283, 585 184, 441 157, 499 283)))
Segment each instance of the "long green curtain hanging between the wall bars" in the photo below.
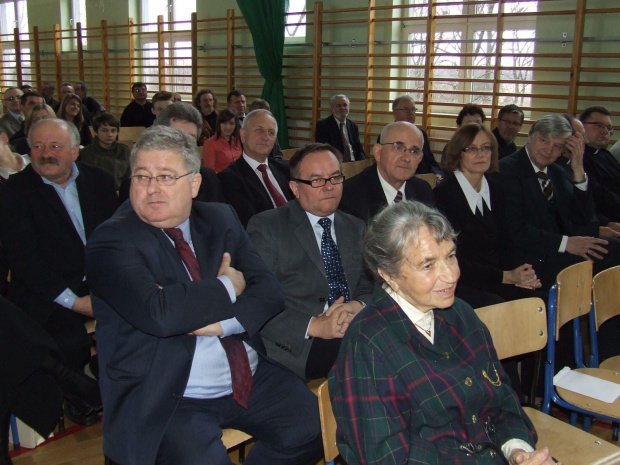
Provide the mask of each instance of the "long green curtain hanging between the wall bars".
POLYGON ((265 78, 261 97, 269 102, 278 122, 278 141, 283 149, 287 149, 282 56, 288 0, 237 0, 237 5, 252 33, 258 69, 265 78))

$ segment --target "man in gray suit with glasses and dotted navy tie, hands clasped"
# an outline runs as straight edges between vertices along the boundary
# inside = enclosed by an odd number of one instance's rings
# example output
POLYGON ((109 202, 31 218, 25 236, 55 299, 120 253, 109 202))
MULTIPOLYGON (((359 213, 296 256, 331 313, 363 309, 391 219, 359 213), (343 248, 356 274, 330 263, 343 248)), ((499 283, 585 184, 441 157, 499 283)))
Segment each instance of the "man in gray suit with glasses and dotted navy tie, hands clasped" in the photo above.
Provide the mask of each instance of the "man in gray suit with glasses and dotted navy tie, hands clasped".
POLYGON ((254 216, 248 234, 285 294, 284 311, 261 330, 267 354, 309 380, 327 376, 373 286, 362 263, 364 223, 338 210, 340 153, 310 144, 289 166, 295 200, 254 216))

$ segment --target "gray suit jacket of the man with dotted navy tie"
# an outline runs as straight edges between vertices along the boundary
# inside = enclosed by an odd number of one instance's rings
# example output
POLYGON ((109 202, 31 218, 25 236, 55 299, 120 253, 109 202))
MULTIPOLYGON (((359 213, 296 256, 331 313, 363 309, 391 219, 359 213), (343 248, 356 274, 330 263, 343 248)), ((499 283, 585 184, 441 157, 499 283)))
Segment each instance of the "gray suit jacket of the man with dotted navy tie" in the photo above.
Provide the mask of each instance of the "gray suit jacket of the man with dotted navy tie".
MULTIPOLYGON (((364 222, 341 211, 334 217, 336 242, 351 299, 370 304, 373 284, 364 272, 364 222)), ((267 355, 305 378, 312 338, 308 322, 320 315, 329 297, 321 251, 308 215, 297 200, 260 213, 250 220, 248 234, 284 289, 284 311, 261 330, 267 355)), ((336 357, 334 353, 334 359, 336 357)))

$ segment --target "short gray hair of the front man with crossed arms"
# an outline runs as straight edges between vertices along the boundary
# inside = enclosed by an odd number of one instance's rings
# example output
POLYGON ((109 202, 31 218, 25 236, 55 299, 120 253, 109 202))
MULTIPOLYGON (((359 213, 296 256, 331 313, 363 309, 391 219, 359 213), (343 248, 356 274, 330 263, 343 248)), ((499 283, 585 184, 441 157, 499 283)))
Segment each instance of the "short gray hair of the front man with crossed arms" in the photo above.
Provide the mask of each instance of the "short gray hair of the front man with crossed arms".
MULTIPOLYGON (((174 105, 170 105, 174 106, 174 105)), ((191 107, 194 108, 194 107, 191 107)), ((161 115, 161 113, 160 113, 161 115)), ((179 154, 188 171, 198 173, 201 160, 196 151, 196 140, 183 131, 169 126, 151 126, 145 129, 131 149, 129 165, 133 171, 139 151, 170 150, 179 154)), ((193 179, 193 176, 191 177, 193 179)))

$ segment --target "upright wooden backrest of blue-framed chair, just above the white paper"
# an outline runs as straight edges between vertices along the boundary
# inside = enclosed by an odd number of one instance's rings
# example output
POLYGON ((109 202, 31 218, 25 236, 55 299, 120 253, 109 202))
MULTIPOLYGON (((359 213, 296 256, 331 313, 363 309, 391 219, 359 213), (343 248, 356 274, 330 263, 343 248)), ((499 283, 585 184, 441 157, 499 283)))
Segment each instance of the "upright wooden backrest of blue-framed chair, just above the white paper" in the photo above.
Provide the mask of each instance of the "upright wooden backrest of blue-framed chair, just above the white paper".
POLYGON ((569 321, 587 315, 592 301, 592 262, 583 261, 564 268, 556 279, 557 310, 555 340, 560 328, 569 321))

